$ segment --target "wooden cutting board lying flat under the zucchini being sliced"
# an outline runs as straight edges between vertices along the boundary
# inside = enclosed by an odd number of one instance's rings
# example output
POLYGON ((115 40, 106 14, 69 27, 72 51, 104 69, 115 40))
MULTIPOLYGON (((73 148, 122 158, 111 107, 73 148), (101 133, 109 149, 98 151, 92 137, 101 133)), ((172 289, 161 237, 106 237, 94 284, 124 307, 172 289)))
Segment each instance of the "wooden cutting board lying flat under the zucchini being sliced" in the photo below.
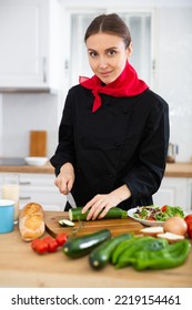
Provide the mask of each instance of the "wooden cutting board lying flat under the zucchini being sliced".
POLYGON ((55 237, 60 232, 65 232, 68 236, 83 236, 87 234, 91 234, 98 231, 100 229, 108 228, 111 230, 112 236, 117 236, 123 232, 134 232, 139 234, 139 230, 143 228, 143 226, 137 220, 128 217, 125 219, 100 219, 100 220, 85 220, 85 221, 74 221, 73 227, 62 227, 59 224, 60 219, 69 219, 68 213, 65 211, 52 211, 46 214, 44 223, 47 231, 55 237))

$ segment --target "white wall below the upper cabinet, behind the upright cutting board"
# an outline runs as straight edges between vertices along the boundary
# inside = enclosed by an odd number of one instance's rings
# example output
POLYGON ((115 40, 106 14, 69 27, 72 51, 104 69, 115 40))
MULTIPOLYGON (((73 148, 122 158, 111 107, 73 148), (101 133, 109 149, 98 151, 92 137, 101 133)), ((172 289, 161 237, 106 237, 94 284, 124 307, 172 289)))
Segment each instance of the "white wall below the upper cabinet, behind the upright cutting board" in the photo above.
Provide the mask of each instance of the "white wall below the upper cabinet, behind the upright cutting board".
POLYGON ((51 94, 4 94, 2 108, 2 155, 29 156, 29 132, 48 131, 48 156, 58 142, 58 96, 51 94))

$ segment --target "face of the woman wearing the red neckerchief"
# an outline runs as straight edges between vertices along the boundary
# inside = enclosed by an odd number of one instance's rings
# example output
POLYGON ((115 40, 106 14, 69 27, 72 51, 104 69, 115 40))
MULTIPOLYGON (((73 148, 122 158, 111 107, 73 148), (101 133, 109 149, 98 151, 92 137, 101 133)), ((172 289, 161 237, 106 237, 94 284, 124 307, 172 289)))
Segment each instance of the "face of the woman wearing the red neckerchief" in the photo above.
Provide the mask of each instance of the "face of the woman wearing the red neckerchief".
POLYGON ((90 35, 85 44, 90 66, 104 84, 121 74, 132 51, 131 44, 125 49, 122 38, 103 32, 90 35))

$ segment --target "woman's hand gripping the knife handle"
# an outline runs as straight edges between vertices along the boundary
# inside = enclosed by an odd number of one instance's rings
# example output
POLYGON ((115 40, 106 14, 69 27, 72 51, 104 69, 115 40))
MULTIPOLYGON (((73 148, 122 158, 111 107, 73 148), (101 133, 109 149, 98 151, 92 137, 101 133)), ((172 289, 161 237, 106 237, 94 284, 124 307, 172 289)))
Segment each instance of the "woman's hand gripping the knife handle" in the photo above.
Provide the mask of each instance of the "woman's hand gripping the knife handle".
POLYGON ((71 163, 65 163, 61 169, 60 174, 57 176, 54 184, 58 186, 61 194, 67 195, 71 192, 74 183, 74 169, 71 163))

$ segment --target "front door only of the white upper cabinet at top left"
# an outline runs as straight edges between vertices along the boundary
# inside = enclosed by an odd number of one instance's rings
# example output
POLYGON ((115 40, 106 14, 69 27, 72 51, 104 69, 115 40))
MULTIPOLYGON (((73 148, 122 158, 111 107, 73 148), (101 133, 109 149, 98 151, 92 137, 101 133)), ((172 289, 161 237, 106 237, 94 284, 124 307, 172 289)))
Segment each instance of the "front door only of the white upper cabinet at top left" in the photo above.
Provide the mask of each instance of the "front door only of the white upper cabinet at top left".
MULTIPOLYGON (((48 28, 44 0, 1 0, 0 86, 31 87, 47 84, 44 41, 48 28)), ((48 2, 47 2, 48 3, 48 2)))

